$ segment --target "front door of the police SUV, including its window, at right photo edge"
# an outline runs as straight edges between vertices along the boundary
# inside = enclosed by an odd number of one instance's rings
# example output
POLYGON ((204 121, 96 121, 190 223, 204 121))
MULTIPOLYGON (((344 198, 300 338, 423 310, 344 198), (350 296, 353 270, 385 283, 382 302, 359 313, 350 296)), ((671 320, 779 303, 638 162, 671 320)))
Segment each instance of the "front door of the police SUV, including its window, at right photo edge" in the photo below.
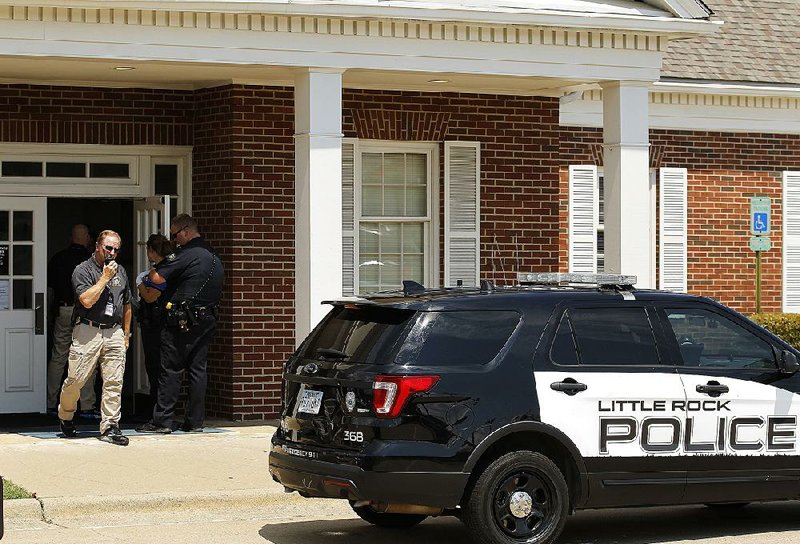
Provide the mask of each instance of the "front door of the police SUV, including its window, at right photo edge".
POLYGON ((780 373, 773 339, 721 305, 658 310, 686 389, 685 502, 796 496, 800 379, 780 373))

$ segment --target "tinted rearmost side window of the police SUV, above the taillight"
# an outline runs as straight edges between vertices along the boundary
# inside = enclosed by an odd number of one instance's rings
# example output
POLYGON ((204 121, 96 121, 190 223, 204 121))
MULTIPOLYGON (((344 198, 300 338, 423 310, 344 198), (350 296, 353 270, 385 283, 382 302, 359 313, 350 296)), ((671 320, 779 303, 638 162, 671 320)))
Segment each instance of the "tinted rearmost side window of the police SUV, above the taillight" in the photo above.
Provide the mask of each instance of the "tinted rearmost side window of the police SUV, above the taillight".
POLYGON ((420 312, 396 362, 401 365, 483 365, 519 323, 513 311, 420 312))

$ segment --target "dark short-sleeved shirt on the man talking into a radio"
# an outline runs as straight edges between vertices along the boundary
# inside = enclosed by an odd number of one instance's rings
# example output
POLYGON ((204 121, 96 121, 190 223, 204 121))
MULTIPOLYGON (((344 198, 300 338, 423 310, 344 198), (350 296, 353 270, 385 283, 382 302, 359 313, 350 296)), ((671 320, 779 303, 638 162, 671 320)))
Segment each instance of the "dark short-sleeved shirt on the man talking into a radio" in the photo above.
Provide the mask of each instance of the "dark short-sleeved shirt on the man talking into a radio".
POLYGON ((78 297, 86 290, 97 283, 103 275, 103 267, 97 263, 94 255, 75 267, 72 272, 72 287, 75 290, 75 311, 79 317, 91 319, 97 323, 110 325, 122 323, 122 307, 131 303, 131 290, 128 286, 128 275, 120 265, 117 274, 106 284, 106 288, 100 294, 100 298, 91 308, 84 308, 78 301, 78 297), (114 305, 112 315, 106 315, 106 305, 108 302, 114 305))

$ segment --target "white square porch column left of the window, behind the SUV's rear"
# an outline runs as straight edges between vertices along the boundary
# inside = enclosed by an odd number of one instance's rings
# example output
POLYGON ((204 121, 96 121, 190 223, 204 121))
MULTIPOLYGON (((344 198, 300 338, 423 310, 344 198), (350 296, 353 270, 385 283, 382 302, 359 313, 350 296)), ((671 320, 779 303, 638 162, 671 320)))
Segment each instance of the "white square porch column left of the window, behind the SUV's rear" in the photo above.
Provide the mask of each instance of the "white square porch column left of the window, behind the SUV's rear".
POLYGON ((342 72, 295 75, 295 344, 342 296, 342 72))

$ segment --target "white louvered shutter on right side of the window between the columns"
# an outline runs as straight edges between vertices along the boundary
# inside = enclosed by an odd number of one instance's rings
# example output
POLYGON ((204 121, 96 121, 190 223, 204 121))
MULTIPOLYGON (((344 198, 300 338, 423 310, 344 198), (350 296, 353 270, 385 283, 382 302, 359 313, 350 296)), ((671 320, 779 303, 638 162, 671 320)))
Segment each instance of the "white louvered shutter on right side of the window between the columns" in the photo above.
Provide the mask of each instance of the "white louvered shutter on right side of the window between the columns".
POLYGON ((444 281, 477 286, 480 276, 480 144, 444 143, 444 281))

